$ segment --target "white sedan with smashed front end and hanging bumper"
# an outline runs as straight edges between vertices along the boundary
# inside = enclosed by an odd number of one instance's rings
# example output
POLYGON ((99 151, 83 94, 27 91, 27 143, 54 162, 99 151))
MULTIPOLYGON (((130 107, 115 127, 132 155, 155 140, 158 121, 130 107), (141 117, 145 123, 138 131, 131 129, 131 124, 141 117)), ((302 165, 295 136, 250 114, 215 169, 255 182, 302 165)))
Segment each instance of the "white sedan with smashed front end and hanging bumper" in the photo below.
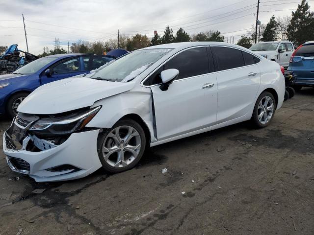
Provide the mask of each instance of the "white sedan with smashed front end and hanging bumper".
POLYGON ((36 89, 4 133, 3 151, 12 170, 37 182, 77 179, 100 167, 121 172, 146 146, 250 119, 267 126, 284 93, 280 66, 243 47, 147 47, 36 89))

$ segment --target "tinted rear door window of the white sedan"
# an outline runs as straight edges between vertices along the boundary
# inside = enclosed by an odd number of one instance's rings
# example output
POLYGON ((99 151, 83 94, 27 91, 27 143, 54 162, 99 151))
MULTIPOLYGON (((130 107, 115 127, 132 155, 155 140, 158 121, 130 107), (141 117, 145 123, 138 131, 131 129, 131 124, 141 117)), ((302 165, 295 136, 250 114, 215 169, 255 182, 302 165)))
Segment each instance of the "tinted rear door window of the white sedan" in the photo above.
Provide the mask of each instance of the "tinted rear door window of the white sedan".
POLYGON ((218 71, 229 70, 245 65, 242 51, 230 47, 212 47, 218 63, 218 71))

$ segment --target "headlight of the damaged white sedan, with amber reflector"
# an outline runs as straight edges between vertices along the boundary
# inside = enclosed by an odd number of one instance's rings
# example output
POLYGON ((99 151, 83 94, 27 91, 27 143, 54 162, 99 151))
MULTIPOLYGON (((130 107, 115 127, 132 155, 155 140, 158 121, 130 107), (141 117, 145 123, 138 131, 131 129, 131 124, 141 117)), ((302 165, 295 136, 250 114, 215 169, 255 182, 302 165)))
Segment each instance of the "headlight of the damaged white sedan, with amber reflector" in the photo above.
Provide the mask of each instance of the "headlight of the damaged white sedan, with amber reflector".
POLYGON ((42 118, 30 126, 29 131, 40 135, 66 135, 81 130, 94 118, 101 106, 78 110, 60 118, 42 118))

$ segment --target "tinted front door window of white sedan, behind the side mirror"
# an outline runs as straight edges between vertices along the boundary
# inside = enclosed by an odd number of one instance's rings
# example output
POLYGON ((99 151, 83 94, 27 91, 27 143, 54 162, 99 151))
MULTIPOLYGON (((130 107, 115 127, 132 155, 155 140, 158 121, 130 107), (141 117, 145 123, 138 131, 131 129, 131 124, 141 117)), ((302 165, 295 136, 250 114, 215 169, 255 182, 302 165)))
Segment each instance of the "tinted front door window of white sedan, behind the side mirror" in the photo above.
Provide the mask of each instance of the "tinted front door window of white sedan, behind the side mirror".
POLYGON ((209 73, 209 61, 206 47, 185 50, 164 65, 164 70, 177 69, 177 80, 209 73))

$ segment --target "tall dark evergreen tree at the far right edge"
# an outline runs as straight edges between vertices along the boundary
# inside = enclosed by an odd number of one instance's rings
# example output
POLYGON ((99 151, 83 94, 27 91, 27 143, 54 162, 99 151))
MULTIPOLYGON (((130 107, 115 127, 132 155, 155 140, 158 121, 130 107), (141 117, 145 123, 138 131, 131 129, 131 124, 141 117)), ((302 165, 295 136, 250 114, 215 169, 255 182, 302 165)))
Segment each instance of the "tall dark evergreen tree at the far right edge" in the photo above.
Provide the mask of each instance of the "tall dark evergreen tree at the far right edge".
POLYGON ((314 35, 314 13, 306 0, 302 0, 298 9, 292 12, 292 18, 287 28, 289 41, 295 45, 301 45, 306 41, 313 40, 314 35))

